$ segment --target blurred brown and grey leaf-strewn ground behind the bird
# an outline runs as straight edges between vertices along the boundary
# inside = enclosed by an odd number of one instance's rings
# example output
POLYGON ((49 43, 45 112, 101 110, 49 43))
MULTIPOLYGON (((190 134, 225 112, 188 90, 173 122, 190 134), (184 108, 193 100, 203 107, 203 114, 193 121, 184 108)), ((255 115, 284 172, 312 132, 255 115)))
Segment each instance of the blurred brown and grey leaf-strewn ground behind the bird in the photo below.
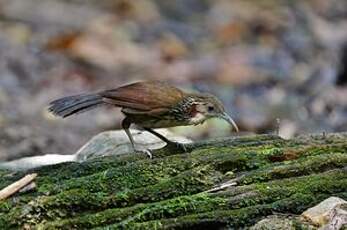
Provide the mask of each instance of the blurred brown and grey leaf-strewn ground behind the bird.
POLYGON ((0 161, 120 128, 114 108, 54 118, 53 99, 150 79, 215 94, 244 133, 346 131, 347 1, 0 0, 0 161))

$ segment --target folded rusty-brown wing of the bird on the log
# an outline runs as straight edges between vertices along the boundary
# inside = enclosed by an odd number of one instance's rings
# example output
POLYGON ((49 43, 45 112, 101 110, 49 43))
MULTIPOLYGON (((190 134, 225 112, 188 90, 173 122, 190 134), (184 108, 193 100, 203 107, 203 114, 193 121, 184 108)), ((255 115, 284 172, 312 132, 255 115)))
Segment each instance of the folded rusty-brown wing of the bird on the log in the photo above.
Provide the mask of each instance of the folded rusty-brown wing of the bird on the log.
POLYGON ((165 111, 182 100, 184 93, 159 81, 136 82, 99 93, 106 103, 127 111, 165 111))

